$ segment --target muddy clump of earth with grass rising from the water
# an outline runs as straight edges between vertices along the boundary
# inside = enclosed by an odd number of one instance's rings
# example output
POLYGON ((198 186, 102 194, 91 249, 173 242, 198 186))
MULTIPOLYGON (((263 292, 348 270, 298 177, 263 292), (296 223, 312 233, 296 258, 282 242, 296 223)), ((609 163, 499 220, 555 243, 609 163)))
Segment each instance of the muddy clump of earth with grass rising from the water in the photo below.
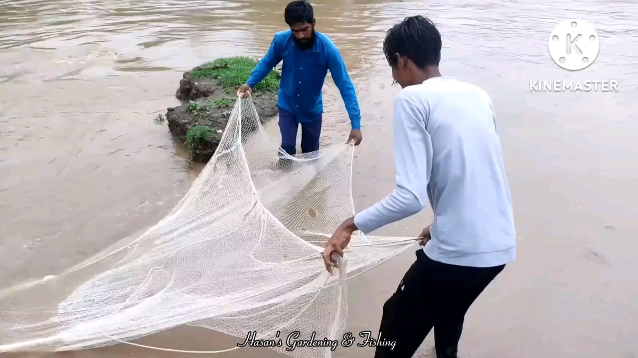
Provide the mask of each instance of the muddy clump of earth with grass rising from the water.
MULTIPOLYGON (((195 162, 207 162, 219 145, 237 99, 237 89, 248 79, 257 61, 227 57, 186 71, 175 97, 181 106, 167 108, 168 129, 188 148, 195 162)), ((277 114, 277 71, 271 71, 253 89, 252 100, 263 123, 277 114)))

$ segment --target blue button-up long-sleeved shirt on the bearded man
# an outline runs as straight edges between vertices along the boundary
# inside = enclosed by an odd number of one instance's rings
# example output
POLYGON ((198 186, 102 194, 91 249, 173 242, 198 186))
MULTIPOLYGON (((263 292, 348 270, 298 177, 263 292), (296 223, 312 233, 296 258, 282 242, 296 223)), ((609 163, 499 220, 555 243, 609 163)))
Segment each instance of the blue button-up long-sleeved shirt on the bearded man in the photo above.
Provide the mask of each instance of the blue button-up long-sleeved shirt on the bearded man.
POLYGON ((290 30, 276 33, 268 53, 253 69, 246 83, 254 89, 283 60, 277 105, 294 113, 298 122, 308 122, 323 113, 322 87, 330 70, 332 80, 341 92, 352 129, 360 129, 359 103, 343 58, 328 36, 320 32, 315 34, 313 47, 301 50, 295 45, 290 30))

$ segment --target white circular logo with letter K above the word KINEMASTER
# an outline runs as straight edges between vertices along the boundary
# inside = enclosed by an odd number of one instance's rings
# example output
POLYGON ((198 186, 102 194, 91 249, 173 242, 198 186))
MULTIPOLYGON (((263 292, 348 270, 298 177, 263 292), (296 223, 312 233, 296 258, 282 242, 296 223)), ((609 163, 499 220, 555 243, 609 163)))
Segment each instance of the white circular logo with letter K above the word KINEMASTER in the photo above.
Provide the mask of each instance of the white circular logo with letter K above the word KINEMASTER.
POLYGON ((596 29, 585 20, 570 19, 554 27, 549 34, 549 55, 558 66, 578 71, 590 66, 600 52, 596 29))

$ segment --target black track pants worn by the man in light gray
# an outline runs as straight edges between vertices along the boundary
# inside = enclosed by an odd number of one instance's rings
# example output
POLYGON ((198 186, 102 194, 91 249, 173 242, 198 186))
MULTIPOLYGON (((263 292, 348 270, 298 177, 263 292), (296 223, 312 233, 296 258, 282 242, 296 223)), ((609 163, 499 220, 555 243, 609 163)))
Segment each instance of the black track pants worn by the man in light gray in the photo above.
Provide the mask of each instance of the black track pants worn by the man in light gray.
POLYGON ((381 338, 396 345, 377 347, 375 358, 412 357, 432 327, 436 357, 456 358, 466 311, 503 268, 444 264, 417 250, 417 260, 383 304, 381 338))

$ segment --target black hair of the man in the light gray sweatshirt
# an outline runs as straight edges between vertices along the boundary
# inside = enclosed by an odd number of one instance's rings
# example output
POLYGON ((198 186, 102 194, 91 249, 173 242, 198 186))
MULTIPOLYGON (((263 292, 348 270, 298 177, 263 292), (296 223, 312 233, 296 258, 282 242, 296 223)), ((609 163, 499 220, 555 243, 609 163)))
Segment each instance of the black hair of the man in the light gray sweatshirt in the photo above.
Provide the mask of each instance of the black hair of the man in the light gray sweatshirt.
POLYGON ((418 68, 438 66, 441 34, 427 17, 406 17, 388 30, 383 40, 383 52, 392 67, 397 64, 396 54, 408 57, 418 68))

